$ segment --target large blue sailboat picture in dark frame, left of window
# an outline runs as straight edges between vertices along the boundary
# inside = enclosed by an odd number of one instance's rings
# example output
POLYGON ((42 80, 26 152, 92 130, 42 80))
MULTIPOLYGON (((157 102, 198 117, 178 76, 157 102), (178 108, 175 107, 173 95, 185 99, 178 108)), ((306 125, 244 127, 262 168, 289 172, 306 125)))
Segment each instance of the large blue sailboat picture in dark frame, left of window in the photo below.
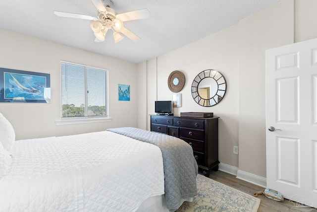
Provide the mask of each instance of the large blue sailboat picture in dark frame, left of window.
POLYGON ((0 102, 51 103, 51 74, 0 68, 0 102))

